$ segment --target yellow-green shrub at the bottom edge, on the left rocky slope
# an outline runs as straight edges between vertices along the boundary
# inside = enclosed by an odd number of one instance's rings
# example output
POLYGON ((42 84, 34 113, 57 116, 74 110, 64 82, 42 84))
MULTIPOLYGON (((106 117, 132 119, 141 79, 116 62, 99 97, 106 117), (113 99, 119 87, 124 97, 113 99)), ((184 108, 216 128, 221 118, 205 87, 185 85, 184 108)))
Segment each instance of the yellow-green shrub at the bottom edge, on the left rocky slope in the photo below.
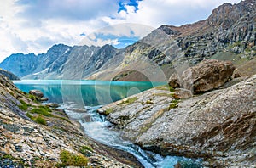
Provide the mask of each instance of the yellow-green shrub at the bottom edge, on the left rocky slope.
POLYGON ((67 150, 61 151, 61 166, 86 166, 88 159, 84 155, 71 154, 67 150))

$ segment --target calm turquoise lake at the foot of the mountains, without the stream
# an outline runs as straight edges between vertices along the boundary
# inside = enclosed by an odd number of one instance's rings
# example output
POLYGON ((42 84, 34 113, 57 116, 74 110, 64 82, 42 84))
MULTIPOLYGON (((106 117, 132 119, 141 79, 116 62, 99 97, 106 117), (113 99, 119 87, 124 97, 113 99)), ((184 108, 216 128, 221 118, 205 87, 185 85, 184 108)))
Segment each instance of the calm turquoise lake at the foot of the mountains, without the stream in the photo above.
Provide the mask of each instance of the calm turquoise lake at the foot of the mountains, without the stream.
POLYGON ((80 106, 109 104, 151 87, 166 84, 150 81, 61 81, 61 80, 23 80, 14 81, 24 92, 38 89, 44 92, 49 102, 63 104, 75 102, 80 106))

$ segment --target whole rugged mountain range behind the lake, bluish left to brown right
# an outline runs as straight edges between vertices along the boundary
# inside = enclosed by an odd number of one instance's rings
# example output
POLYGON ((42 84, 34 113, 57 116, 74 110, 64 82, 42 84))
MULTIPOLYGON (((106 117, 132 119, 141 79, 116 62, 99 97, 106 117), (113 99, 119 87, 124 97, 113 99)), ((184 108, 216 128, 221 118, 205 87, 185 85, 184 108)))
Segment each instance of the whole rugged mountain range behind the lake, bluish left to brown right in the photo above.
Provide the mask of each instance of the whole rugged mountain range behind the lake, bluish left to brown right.
POLYGON ((124 48, 57 44, 47 53, 15 53, 0 67, 22 79, 163 81, 181 65, 231 60, 242 75, 256 72, 256 1, 223 5, 194 24, 161 25, 124 48), (251 67, 251 68, 248 68, 251 67))

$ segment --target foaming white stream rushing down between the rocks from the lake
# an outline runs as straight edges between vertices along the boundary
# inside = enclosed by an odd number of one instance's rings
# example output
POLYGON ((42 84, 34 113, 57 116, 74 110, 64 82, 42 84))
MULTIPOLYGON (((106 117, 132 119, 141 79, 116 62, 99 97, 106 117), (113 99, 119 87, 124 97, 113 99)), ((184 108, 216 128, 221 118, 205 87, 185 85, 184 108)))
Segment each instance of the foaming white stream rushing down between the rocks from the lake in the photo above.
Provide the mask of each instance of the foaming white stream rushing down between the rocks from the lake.
POLYGON ((108 129, 111 124, 105 120, 104 116, 98 115, 96 109, 101 106, 95 107, 84 107, 87 109, 86 113, 75 112, 73 110, 73 105, 62 105, 61 108, 65 109, 67 115, 69 115, 74 120, 78 120, 84 127, 84 132, 95 139, 96 141, 111 146, 113 148, 118 148, 124 150, 130 154, 133 154, 137 160, 139 160, 142 165, 146 168, 150 167, 162 167, 171 168, 177 164, 179 160, 191 161, 184 157, 176 156, 166 156, 162 157, 160 154, 154 154, 153 152, 145 151, 134 145, 129 141, 125 141, 119 136, 119 132, 114 132, 108 129))

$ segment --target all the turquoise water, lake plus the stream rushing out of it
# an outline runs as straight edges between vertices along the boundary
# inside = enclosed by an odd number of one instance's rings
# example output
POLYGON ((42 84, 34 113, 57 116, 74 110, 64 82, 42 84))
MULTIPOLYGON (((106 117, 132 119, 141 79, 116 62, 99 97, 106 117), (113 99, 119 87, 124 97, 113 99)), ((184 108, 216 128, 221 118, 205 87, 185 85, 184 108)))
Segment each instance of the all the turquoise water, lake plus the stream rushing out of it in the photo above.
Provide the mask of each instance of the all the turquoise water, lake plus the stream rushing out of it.
POLYGON ((160 154, 142 150, 137 145, 122 139, 119 132, 110 130, 111 124, 108 120, 96 113, 96 109, 104 104, 164 85, 165 82, 24 80, 14 81, 14 83, 24 92, 32 89, 41 90, 44 96, 49 98, 49 102, 61 104, 61 108, 65 109, 67 115, 79 121, 88 136, 100 143, 133 154, 144 167, 171 168, 179 160, 191 163, 189 167, 200 167, 198 160, 176 156, 162 157, 160 154), (82 113, 77 110, 78 108, 86 109, 86 112, 82 113))

